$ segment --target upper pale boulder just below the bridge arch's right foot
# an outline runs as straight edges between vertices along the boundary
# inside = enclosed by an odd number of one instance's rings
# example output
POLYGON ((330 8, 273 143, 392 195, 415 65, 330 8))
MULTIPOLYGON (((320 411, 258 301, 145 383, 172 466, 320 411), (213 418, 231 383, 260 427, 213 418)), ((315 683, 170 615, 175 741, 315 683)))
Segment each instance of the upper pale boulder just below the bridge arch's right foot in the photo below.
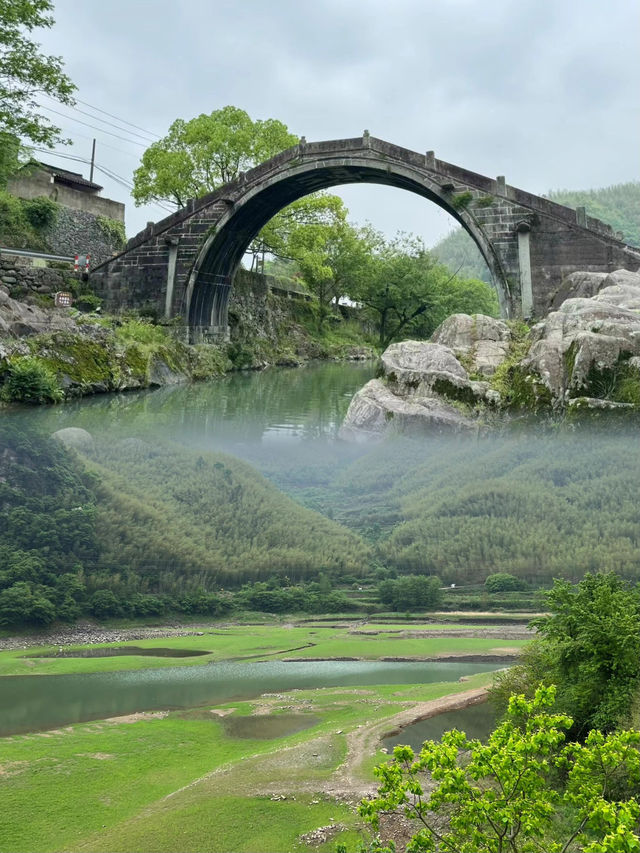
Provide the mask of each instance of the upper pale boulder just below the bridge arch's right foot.
POLYGON ((486 314, 452 314, 431 340, 449 347, 471 373, 492 376, 509 353, 511 332, 505 322, 486 314))

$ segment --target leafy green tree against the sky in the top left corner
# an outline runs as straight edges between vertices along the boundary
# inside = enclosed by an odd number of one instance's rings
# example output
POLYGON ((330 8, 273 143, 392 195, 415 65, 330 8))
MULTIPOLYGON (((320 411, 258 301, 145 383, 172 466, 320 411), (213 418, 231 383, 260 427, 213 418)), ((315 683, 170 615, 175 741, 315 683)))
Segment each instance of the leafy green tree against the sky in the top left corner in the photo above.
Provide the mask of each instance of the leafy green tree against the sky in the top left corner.
MULTIPOLYGON (((39 27, 53 26, 51 0, 0 0, 0 149, 11 137, 52 147, 60 128, 42 115, 40 94, 73 104, 75 86, 62 70, 62 59, 44 56, 30 37, 39 27)), ((7 164, 0 158, 0 166, 7 164)), ((2 174, 0 171, 0 178, 2 174)))

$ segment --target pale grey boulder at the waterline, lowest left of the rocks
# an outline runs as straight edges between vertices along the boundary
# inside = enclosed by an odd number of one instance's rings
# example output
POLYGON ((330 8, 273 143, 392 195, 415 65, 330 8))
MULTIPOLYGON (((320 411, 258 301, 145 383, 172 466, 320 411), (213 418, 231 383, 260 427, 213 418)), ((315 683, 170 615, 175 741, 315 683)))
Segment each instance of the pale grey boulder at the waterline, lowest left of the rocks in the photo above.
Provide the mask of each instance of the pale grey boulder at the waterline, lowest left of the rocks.
POLYGON ((372 379, 349 405, 340 437, 382 438, 389 433, 443 433, 468 430, 474 422, 438 397, 394 394, 381 379, 372 379))

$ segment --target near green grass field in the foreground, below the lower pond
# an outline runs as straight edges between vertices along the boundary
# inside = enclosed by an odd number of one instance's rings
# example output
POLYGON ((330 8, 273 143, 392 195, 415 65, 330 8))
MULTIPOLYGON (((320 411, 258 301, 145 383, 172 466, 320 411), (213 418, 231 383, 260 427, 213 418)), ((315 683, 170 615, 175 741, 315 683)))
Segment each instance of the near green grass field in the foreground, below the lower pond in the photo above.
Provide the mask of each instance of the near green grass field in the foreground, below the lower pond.
MULTIPOLYGON (((276 740, 230 737, 203 709, 5 738, 0 849, 284 853, 309 849, 299 836, 333 818, 346 830, 313 848, 333 850, 338 837, 359 832, 353 809, 332 795, 349 732, 490 678, 300 690, 217 709, 277 714, 294 706, 319 718, 276 740)), ((374 755, 362 756, 365 778, 374 755)))

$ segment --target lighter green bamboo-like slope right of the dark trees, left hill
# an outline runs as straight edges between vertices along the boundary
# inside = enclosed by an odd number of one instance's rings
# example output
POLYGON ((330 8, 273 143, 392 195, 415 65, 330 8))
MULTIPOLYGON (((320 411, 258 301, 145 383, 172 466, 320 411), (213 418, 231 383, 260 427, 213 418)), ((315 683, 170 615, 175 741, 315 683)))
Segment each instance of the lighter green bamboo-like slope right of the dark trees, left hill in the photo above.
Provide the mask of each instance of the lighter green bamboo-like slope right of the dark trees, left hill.
POLYGON ((103 562, 159 579, 163 591, 365 568, 357 535, 225 454, 134 439, 99 446, 87 464, 99 477, 103 562))

